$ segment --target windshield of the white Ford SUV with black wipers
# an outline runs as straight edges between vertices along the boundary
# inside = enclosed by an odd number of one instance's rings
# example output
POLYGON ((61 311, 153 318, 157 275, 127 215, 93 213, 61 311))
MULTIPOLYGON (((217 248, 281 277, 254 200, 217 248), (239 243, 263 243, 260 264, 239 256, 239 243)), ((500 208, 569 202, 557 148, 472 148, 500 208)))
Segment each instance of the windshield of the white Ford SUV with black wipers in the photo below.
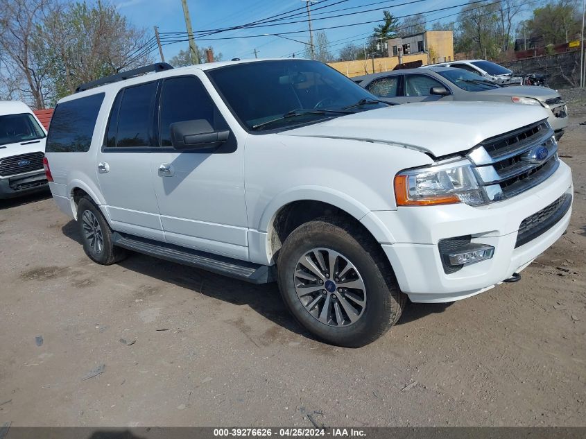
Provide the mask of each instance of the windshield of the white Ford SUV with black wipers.
POLYGON ((316 61, 247 62, 212 69, 207 75, 236 118, 252 131, 293 128, 340 117, 348 112, 345 107, 362 99, 365 102, 352 107, 352 112, 386 106, 372 102, 377 100, 374 95, 316 61), (293 113, 295 117, 283 118, 293 113))

